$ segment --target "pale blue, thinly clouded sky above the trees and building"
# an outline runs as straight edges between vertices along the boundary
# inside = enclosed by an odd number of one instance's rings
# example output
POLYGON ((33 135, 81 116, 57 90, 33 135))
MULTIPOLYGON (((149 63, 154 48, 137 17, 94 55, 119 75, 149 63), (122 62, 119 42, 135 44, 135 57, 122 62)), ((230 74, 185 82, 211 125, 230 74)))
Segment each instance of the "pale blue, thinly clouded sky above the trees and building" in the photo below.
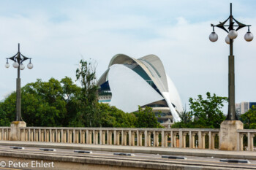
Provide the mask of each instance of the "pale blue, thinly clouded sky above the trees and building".
MULTIPOLYGON (((252 25, 256 35, 256 1, 212 0, 0 0, 0 101, 15 91, 17 69, 4 67, 5 58, 18 51, 32 58, 34 68, 21 71, 21 85, 37 79, 75 82, 80 59, 97 62, 97 77, 118 54, 133 58, 159 56, 173 80, 184 107, 189 98, 206 92, 228 96, 227 33, 215 28, 217 42, 210 42, 211 23, 230 15, 252 25)), ((256 101, 256 39, 244 40, 247 28, 234 42, 236 102, 256 101)), ((29 62, 25 61, 25 64, 29 62)), ((12 64, 12 61, 10 61, 12 64)), ((227 104, 223 108, 227 112, 227 104)))

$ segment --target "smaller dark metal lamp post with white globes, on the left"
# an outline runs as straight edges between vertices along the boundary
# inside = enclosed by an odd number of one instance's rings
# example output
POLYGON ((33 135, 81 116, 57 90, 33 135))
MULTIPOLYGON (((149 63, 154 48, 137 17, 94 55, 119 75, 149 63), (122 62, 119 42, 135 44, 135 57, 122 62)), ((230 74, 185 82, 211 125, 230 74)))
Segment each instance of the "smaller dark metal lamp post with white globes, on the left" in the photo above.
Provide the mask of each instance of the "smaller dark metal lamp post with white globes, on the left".
POLYGON ((14 68, 18 69, 18 77, 16 80, 16 117, 15 117, 15 121, 22 121, 22 117, 21 117, 21 98, 20 98, 20 70, 25 69, 25 66, 23 64, 23 61, 26 61, 29 59, 29 63, 28 63, 28 68, 32 69, 33 68, 33 64, 31 63, 31 58, 27 58, 24 55, 22 55, 20 53, 20 44, 18 44, 18 53, 15 54, 14 56, 7 58, 7 63, 5 64, 6 68, 10 67, 10 63, 8 63, 8 60, 12 60, 14 61, 14 63, 12 63, 12 66, 14 68))

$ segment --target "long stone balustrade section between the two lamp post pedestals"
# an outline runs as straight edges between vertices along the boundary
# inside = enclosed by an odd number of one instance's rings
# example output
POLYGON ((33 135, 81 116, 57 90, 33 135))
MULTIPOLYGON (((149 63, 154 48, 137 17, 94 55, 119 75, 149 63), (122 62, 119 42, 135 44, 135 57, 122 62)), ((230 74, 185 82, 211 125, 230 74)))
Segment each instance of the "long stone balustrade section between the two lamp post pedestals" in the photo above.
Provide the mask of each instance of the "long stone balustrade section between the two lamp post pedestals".
POLYGON ((219 149, 214 128, 20 128, 21 141, 219 149))

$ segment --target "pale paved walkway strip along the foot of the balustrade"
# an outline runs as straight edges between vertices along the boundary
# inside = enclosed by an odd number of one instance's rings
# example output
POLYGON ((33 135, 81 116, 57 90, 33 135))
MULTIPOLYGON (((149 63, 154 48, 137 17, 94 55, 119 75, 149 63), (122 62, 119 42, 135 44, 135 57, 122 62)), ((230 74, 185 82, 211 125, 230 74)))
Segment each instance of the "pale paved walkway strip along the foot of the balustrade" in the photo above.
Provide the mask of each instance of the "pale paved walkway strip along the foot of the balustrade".
POLYGON ((233 158, 256 160, 256 151, 224 151, 224 150, 203 150, 189 148, 171 148, 171 147, 131 147, 107 144, 69 144, 53 142, 17 142, 17 141, 0 141, 0 145, 23 146, 23 147, 46 147, 70 150, 102 150, 110 152, 135 152, 151 153, 161 155, 187 155, 202 156, 214 158, 233 158))

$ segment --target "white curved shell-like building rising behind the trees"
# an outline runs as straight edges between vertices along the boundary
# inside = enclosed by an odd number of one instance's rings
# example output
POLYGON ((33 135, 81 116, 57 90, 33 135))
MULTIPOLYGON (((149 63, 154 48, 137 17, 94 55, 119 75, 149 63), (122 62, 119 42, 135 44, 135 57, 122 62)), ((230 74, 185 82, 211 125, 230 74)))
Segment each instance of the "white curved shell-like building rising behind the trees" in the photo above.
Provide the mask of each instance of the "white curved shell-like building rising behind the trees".
POLYGON ((131 58, 115 55, 97 83, 99 102, 109 103, 124 112, 138 111, 138 106, 152 107, 160 123, 180 121, 181 98, 162 61, 156 55, 131 58))

